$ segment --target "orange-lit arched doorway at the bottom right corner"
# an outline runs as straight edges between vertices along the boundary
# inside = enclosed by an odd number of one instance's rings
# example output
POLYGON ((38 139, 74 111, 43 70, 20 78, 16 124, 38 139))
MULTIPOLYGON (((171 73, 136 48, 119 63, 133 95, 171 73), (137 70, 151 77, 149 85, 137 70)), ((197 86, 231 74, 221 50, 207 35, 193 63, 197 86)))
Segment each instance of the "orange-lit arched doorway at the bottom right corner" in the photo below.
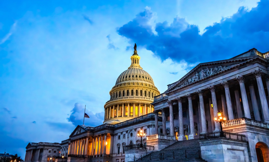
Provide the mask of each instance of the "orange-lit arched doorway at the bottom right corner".
POLYGON ((269 161, 269 149, 265 143, 258 142, 255 148, 258 162, 269 161))

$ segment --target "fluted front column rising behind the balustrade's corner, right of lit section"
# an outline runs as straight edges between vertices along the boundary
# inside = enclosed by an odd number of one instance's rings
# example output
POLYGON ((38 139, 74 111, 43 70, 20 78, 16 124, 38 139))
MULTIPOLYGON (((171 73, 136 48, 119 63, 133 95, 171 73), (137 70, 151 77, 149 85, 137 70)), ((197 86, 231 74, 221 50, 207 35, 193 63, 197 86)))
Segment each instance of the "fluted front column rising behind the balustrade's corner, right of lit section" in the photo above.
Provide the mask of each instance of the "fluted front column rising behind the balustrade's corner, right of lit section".
POLYGON ((245 117, 251 119, 249 105, 246 96, 245 78, 243 76, 239 76, 236 79, 239 81, 240 84, 245 117))

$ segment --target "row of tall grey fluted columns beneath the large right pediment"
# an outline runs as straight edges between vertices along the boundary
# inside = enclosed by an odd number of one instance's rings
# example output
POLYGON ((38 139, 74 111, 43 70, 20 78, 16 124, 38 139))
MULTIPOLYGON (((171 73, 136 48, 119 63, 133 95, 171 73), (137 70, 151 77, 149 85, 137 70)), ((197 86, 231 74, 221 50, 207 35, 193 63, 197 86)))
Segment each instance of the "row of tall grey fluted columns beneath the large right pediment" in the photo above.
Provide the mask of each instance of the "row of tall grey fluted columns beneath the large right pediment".
MULTIPOLYGON (((261 98, 261 107, 262 107, 262 111, 263 111, 263 115, 264 115, 264 122, 269 123, 269 109, 268 109, 268 104, 267 104, 267 100, 266 100, 264 87, 263 87, 262 80, 261 80, 261 73, 262 72, 261 72, 261 70, 255 70, 252 73, 255 75, 256 80, 257 80, 257 84, 258 84, 258 90, 259 90, 259 94, 260 94, 260 98, 261 98)), ((242 102, 243 102, 243 108, 244 108, 244 115, 246 118, 251 119, 247 95, 246 95, 245 79, 243 76, 238 76, 238 77, 236 77, 236 79, 238 80, 238 82, 240 84, 241 96, 242 96, 242 102)), ((225 89, 225 96, 221 95, 223 114, 227 118, 227 120, 233 120, 234 115, 233 115, 231 96, 230 96, 230 90, 229 90, 229 82, 224 81, 222 83, 222 85, 224 86, 224 89, 225 89)), ((267 85, 267 83, 266 83, 266 85, 267 85)), ((268 83, 268 85, 269 85, 269 83, 268 83)), ((253 84, 250 84, 249 87, 250 87, 250 94, 251 94, 251 100, 252 100, 252 106, 253 106, 255 119, 258 121, 261 121, 253 84)), ((211 96, 212 96, 211 99, 212 99, 212 104, 213 104, 213 113, 211 112, 211 114, 213 114, 213 116, 211 116, 211 118, 214 118, 214 117, 217 117, 217 113, 218 113, 216 93, 215 93, 216 88, 213 85, 208 87, 208 88, 211 91, 211 96)), ((199 102, 200 102, 200 105, 199 105, 200 106, 200 116, 201 116, 200 120, 201 120, 201 129, 202 129, 201 133, 206 133, 207 128, 206 128, 206 115, 205 115, 203 91, 198 90, 196 93, 198 93, 198 95, 199 95, 199 102)), ((236 95, 236 93, 237 92, 235 91, 235 95, 236 95)), ((192 95, 187 94, 186 97, 188 98, 188 103, 189 103, 188 104, 189 105, 189 120, 190 120, 189 139, 193 139, 193 138, 196 138, 195 137, 196 134, 195 134, 194 120, 193 120, 192 95)), ((238 101, 239 101, 239 99, 238 99, 238 101)), ((183 125, 183 114, 182 114, 182 98, 181 97, 177 98, 177 102, 178 102, 178 109, 179 109, 179 120, 178 120, 179 121, 179 140, 184 140, 185 135, 184 135, 184 125, 183 125)), ((169 105, 169 112, 170 112, 170 134, 171 134, 171 136, 174 136, 174 129, 172 129, 172 128, 174 128, 173 101, 168 101, 167 103, 169 105)), ((239 107, 239 106, 237 106, 237 107, 239 107)), ((239 112, 238 117, 239 118, 243 117, 242 115, 240 115, 240 111, 238 111, 238 112, 239 112)), ((165 130, 166 125, 165 125, 164 109, 162 109, 162 116, 163 116, 163 130, 165 130)), ((155 115, 155 125, 156 124, 158 124, 158 116, 157 115, 155 115)), ((220 131, 220 123, 214 122, 214 125, 215 125, 214 131, 220 131)), ((156 129, 156 127, 155 127, 155 133, 158 134, 158 128, 156 129)), ((166 134, 166 131, 163 131, 163 133, 166 134)))

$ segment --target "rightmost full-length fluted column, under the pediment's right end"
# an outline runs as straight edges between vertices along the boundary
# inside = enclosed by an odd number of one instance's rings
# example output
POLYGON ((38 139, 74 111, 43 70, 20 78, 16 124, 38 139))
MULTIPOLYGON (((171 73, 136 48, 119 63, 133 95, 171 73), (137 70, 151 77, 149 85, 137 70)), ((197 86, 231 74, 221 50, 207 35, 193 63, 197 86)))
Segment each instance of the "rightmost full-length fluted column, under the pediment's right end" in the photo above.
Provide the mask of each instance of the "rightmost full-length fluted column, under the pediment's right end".
POLYGON ((260 94, 260 98, 261 98, 261 107, 262 107, 264 122, 269 123, 269 109, 268 109, 266 95, 265 95, 263 84, 262 84, 262 80, 261 80, 262 71, 260 69, 258 69, 258 70, 255 70, 252 73, 255 75, 256 80, 257 80, 257 84, 258 84, 258 89, 259 89, 259 94, 260 94))

